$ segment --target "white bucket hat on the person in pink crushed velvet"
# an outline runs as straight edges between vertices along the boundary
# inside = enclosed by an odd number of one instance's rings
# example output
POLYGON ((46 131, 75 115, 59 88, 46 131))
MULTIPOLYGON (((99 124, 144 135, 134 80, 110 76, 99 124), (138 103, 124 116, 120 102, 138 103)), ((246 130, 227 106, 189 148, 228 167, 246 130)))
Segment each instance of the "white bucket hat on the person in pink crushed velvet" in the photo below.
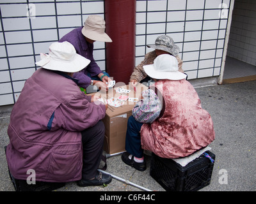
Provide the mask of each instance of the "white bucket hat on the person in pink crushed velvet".
POLYGON ((182 80, 187 77, 178 68, 178 61, 169 54, 161 54, 156 57, 154 64, 143 66, 144 71, 151 78, 182 80))

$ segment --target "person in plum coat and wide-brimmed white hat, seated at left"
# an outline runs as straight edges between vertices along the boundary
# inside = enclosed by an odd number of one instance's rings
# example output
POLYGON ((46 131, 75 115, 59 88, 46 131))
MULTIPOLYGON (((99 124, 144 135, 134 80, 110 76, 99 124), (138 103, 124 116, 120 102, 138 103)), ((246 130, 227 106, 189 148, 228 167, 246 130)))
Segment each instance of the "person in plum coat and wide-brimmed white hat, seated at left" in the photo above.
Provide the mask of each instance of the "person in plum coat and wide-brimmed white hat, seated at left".
POLYGON ((101 119, 108 106, 81 92, 72 78, 90 60, 67 41, 52 43, 41 58, 36 64, 42 68, 26 81, 10 117, 10 173, 26 180, 32 169, 37 181, 108 184, 111 175, 97 170, 105 133, 101 119))

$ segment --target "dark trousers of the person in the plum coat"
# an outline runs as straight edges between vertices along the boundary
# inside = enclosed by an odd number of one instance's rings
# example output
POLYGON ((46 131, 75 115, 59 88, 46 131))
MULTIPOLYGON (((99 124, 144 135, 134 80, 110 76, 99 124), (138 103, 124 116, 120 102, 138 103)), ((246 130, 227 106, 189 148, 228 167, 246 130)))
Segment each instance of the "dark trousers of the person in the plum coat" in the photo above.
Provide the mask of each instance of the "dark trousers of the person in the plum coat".
POLYGON ((101 120, 92 128, 82 131, 83 179, 93 179, 97 175, 103 152, 104 135, 105 126, 101 120))

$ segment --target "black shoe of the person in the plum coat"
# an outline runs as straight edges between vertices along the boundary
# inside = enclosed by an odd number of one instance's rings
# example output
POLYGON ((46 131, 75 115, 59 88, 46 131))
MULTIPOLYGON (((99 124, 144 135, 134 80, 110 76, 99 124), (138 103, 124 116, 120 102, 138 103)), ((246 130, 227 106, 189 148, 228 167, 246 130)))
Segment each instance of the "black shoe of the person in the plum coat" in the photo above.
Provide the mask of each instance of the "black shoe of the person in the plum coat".
POLYGON ((101 186, 103 184, 109 184, 112 180, 111 175, 99 172, 97 173, 96 177, 92 180, 90 179, 81 179, 77 182, 77 185, 80 187, 86 186, 101 186))

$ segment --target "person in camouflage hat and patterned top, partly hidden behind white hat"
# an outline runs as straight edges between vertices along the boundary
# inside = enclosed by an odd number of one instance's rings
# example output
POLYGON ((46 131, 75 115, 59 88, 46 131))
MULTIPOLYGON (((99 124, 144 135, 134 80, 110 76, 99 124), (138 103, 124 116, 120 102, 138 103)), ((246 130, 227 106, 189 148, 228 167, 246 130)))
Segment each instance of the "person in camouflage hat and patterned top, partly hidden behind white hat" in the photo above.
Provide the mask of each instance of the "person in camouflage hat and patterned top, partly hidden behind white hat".
POLYGON ((145 73, 143 66, 148 64, 154 64, 154 59, 158 55, 161 54, 170 54, 176 57, 178 61, 179 71, 184 73, 182 69, 182 60, 179 57, 180 48, 174 44, 173 39, 168 35, 161 35, 156 38, 155 44, 147 45, 149 48, 154 48, 155 50, 152 52, 148 52, 145 55, 145 58, 143 61, 136 66, 132 72, 132 75, 130 77, 130 82, 132 85, 136 85, 137 82, 147 82, 150 80, 150 77, 147 76, 145 73))

